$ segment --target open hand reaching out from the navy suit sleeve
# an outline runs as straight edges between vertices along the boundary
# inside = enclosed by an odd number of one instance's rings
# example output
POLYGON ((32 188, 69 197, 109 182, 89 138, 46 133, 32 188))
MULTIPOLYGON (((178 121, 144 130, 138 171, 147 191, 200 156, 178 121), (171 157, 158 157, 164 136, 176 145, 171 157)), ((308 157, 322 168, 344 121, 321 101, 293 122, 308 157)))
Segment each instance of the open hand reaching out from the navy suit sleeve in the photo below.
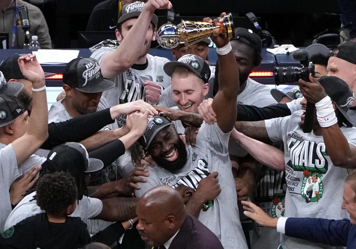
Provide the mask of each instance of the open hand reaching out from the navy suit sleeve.
POLYGON ((250 201, 241 201, 242 207, 245 209, 244 214, 256 221, 258 224, 265 227, 277 227, 278 218, 272 218, 260 207, 250 201))

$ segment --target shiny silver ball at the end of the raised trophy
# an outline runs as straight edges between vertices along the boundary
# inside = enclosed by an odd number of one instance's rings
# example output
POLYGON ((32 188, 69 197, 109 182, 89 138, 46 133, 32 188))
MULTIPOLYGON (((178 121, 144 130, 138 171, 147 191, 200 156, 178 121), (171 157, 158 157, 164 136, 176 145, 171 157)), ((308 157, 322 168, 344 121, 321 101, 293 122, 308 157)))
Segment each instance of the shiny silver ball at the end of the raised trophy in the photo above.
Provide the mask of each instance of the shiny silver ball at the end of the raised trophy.
POLYGON ((164 24, 157 30, 157 42, 164 48, 175 48, 179 45, 182 35, 176 25, 164 24))

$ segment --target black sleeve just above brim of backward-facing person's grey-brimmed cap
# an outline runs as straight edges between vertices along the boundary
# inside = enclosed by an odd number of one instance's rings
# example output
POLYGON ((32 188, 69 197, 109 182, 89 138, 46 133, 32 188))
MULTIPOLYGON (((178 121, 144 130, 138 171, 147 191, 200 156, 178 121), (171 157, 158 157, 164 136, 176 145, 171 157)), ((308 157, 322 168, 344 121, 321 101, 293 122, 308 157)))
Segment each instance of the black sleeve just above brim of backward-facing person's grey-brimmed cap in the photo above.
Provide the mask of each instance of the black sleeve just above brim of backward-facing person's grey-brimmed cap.
POLYGON ((104 166, 110 165, 118 157, 125 153, 125 145, 120 139, 116 139, 99 149, 89 152, 90 158, 96 158, 103 161, 104 166))

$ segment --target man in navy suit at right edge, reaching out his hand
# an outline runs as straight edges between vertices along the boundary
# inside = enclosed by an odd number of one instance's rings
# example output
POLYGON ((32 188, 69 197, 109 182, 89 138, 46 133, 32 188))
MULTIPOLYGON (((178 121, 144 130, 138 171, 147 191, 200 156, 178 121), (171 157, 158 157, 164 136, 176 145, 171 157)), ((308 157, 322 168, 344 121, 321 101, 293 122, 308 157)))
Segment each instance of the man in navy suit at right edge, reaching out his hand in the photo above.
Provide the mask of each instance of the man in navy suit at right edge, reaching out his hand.
POLYGON ((252 202, 242 201, 244 214, 258 224, 277 228, 287 236, 312 240, 325 245, 342 246, 347 249, 356 248, 356 171, 346 178, 342 209, 350 214, 350 219, 321 218, 272 218, 252 202))

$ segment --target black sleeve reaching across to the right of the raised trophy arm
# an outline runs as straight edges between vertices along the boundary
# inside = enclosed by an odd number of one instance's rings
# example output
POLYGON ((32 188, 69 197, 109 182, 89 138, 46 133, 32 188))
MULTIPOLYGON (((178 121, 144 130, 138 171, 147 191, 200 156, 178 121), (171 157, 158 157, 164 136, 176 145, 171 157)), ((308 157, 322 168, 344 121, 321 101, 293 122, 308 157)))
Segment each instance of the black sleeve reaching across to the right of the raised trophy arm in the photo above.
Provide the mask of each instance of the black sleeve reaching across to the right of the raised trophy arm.
POLYGON ((291 114, 286 104, 265 107, 237 105, 236 121, 261 121, 270 118, 285 117, 291 114))

